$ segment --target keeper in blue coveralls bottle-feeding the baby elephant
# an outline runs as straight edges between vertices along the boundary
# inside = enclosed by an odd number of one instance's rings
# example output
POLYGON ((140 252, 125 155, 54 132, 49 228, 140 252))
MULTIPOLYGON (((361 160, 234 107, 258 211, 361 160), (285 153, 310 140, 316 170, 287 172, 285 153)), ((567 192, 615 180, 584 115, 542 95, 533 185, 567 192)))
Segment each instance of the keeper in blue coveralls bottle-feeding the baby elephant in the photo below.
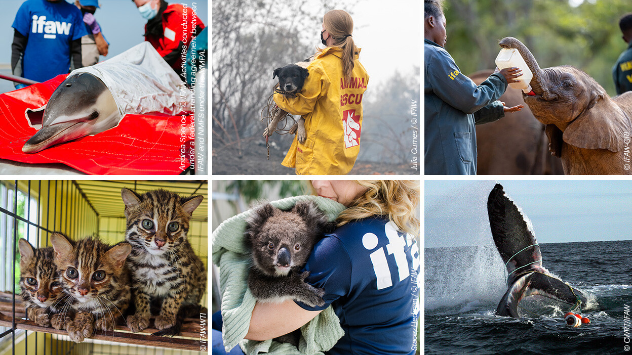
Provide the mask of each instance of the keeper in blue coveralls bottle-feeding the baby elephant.
POLYGON ((475 124, 497 121, 504 107, 497 101, 508 83, 522 75, 519 68, 496 68, 481 85, 463 75, 446 46, 442 1, 425 1, 424 27, 425 174, 476 174, 475 124))

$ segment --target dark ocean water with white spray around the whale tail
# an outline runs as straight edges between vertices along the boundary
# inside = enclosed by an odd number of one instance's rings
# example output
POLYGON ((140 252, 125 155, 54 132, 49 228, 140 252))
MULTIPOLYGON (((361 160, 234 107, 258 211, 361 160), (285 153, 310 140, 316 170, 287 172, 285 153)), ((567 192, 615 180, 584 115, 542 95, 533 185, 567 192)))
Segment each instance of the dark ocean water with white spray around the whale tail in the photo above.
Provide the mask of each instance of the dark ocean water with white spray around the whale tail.
POLYGON ((549 299, 521 303, 537 315, 496 316, 507 286, 493 245, 426 248, 425 354, 632 354, 624 349, 632 343, 623 341, 632 241, 547 243, 540 250, 545 268, 588 295, 576 313, 590 324, 568 327, 570 306, 549 299))

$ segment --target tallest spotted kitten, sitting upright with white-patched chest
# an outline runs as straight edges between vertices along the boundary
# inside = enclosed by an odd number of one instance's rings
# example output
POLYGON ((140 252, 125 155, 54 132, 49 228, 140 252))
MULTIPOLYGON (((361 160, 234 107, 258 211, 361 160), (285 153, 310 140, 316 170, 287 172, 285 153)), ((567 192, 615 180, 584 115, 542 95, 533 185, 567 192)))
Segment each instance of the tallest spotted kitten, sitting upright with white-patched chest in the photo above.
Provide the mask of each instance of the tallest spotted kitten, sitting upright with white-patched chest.
POLYGON ((123 189, 127 218, 125 239, 136 313, 127 318, 132 332, 149 326, 150 304, 161 304, 154 335, 179 334, 183 318, 200 309, 206 268, 193 253, 186 234, 203 196, 180 197, 166 190, 139 195, 123 189))

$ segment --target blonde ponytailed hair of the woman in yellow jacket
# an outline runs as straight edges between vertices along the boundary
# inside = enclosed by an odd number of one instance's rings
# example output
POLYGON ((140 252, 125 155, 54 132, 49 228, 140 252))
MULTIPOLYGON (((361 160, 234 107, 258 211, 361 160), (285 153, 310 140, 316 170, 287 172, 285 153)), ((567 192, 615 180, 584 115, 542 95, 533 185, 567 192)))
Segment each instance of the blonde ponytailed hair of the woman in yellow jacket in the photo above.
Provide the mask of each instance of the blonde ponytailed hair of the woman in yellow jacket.
MULTIPOLYGON (((347 11, 331 10, 325 13, 322 24, 329 35, 334 38, 334 45, 343 50, 343 76, 345 80, 351 79, 351 71, 358 54, 358 47, 353 42, 351 33, 353 32, 353 18, 347 11)), ((319 49, 322 52, 322 49, 319 49)))

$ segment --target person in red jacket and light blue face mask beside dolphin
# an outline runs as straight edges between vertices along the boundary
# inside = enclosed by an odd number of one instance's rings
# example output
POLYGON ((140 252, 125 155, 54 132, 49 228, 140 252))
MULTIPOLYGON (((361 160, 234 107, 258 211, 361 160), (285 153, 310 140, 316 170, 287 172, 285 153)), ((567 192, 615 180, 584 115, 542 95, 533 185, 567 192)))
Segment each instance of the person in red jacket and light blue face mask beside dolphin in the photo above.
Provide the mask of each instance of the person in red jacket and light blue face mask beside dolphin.
POLYGON ((132 0, 147 20, 145 40, 171 68, 186 81, 182 53, 188 51, 191 38, 204 30, 204 23, 191 8, 169 4, 164 0, 132 0))

